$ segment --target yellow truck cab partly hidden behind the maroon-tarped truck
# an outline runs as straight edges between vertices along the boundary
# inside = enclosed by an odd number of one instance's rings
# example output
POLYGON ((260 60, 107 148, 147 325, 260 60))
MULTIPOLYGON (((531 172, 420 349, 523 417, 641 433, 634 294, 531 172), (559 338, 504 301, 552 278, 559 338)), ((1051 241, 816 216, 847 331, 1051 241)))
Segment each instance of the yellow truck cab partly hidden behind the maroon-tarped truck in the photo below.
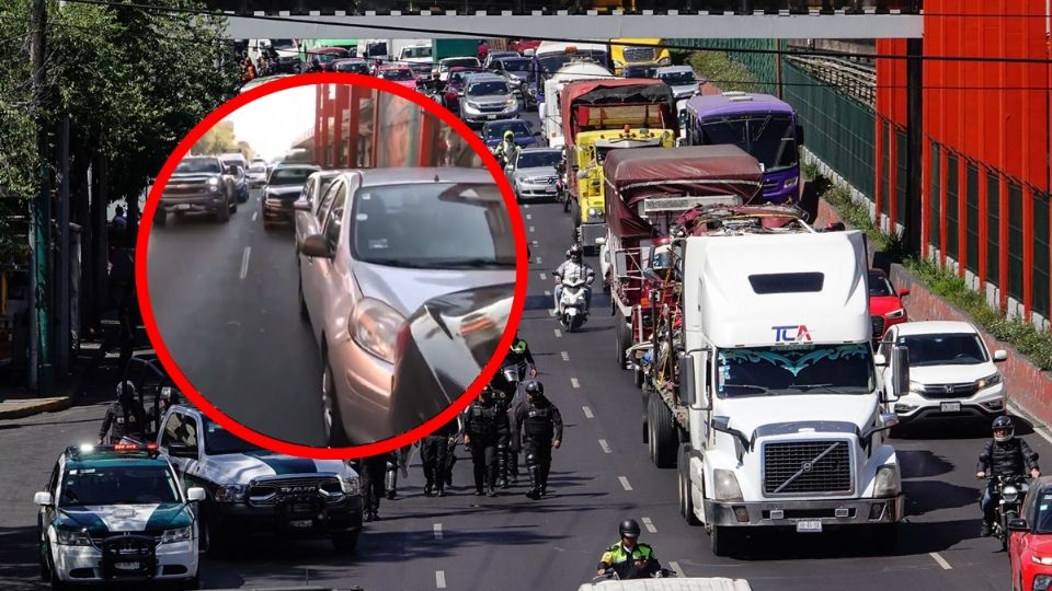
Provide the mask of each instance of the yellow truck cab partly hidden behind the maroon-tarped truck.
MULTIPOLYGON (((574 137, 573 162, 576 169, 578 199, 568 204, 574 215, 574 227, 592 227, 606 216, 604 201, 603 160, 610 150, 624 148, 675 148, 677 134, 672 129, 648 129, 626 125, 622 129, 582 131, 574 137)), ((572 199, 572 195, 568 199, 572 199)), ((605 224, 603 224, 605 231, 605 224)), ((578 232, 579 230, 574 230, 578 232)), ((590 236, 575 236, 585 246, 595 244, 590 236), (582 240, 584 239, 584 240, 582 240)))

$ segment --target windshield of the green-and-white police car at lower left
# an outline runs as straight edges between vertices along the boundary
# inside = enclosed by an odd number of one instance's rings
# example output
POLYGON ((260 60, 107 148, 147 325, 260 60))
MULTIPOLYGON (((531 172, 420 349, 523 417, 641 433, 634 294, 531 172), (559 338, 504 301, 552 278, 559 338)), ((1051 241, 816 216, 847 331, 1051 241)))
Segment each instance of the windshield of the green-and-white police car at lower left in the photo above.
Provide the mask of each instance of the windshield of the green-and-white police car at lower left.
POLYGON ((70 467, 62 478, 59 507, 181 502, 172 471, 161 463, 70 467))

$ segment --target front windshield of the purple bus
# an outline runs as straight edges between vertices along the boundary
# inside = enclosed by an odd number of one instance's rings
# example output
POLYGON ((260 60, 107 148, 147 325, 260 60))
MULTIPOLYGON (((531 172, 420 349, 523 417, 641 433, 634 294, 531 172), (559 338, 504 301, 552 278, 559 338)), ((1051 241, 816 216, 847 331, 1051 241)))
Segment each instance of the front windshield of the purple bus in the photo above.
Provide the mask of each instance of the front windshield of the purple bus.
POLYGON ((797 142, 792 119, 761 115, 720 117, 701 123, 704 144, 733 143, 775 172, 797 165, 797 142))

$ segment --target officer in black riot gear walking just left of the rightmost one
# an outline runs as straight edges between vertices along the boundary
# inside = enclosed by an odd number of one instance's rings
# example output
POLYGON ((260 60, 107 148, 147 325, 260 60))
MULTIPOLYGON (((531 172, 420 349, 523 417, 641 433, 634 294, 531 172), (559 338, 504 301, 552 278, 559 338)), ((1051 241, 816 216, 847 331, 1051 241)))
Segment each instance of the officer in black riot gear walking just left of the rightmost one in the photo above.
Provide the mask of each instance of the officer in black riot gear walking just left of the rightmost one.
POLYGON ((478 496, 496 496, 498 449, 506 447, 508 440, 507 407, 499 404, 493 394, 493 389, 487 385, 468 407, 464 421, 464 444, 471 450, 478 496))

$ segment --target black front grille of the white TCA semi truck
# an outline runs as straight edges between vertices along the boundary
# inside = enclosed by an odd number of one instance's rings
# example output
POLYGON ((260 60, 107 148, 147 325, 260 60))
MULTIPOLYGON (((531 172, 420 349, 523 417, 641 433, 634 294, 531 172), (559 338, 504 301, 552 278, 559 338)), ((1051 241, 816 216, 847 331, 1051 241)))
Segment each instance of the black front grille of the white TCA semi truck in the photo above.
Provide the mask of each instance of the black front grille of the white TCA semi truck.
POLYGON ((850 493, 850 450, 844 440, 764 444, 764 494, 850 493))

